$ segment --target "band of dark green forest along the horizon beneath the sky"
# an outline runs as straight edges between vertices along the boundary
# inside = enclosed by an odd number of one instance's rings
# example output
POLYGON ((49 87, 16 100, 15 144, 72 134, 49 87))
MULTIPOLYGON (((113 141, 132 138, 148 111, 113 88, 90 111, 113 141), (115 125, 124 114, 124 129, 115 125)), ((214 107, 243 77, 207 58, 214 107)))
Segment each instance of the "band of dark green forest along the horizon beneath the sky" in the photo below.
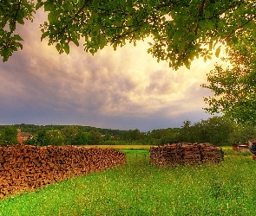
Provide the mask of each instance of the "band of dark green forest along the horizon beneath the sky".
POLYGON ((225 117, 213 117, 191 124, 186 120, 181 128, 157 129, 148 132, 112 130, 81 125, 0 125, 0 144, 16 144, 17 129, 32 137, 24 144, 45 145, 161 145, 166 143, 212 143, 226 146, 247 143, 256 137, 256 128, 242 126, 225 117))

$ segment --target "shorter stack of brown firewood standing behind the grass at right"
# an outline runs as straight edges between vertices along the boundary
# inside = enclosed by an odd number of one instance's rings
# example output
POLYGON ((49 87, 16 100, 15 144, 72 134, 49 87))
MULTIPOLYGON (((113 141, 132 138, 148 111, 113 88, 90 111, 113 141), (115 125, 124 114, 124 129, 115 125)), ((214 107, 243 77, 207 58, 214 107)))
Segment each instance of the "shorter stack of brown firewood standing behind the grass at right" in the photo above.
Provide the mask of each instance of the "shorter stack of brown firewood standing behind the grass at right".
POLYGON ((218 164, 220 149, 210 143, 174 143, 150 148, 150 162, 159 167, 218 164))

